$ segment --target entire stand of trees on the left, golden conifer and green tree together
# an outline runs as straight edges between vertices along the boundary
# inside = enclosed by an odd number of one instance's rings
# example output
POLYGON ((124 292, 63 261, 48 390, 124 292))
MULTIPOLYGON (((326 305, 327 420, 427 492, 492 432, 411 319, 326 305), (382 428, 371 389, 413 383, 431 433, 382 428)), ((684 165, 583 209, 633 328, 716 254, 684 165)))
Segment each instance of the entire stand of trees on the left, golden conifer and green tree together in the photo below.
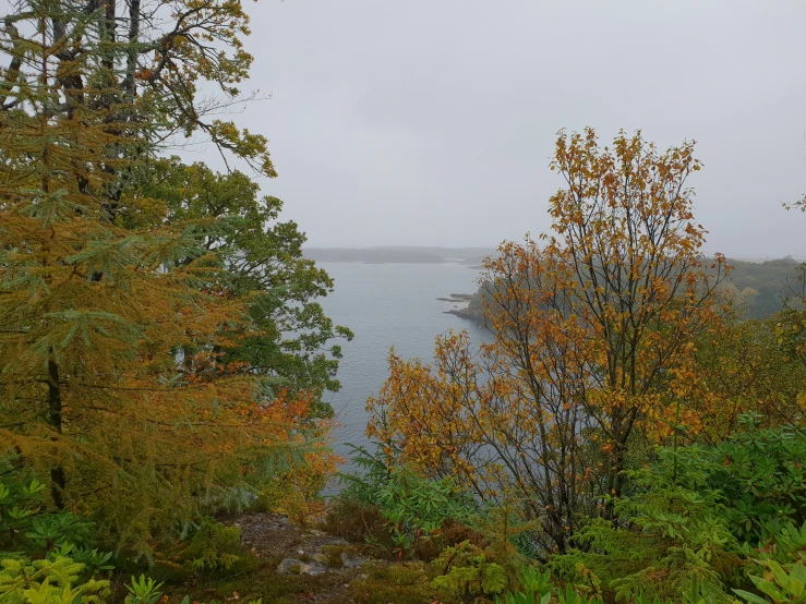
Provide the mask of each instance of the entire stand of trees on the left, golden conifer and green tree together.
POLYGON ((2 452, 141 552, 205 510, 309 505, 333 467, 330 279, 246 176, 159 154, 205 133, 274 176, 197 94, 237 98, 246 24, 232 1, 24 0, 2 29, 2 452))

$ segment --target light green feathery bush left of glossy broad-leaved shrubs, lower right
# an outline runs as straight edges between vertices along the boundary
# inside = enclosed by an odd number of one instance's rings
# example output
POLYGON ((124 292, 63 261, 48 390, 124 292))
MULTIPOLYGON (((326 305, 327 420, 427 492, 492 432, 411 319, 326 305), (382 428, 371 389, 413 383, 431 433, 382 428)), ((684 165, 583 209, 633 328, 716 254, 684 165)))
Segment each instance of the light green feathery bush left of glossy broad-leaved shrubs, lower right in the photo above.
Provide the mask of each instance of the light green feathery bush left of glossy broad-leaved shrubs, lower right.
POLYGON ((699 447, 661 449, 652 467, 628 473, 635 494, 613 502, 615 521, 590 521, 552 567, 570 580, 592 573, 618 600, 679 600, 693 583, 725 593, 742 547, 709 484, 718 468, 699 447))

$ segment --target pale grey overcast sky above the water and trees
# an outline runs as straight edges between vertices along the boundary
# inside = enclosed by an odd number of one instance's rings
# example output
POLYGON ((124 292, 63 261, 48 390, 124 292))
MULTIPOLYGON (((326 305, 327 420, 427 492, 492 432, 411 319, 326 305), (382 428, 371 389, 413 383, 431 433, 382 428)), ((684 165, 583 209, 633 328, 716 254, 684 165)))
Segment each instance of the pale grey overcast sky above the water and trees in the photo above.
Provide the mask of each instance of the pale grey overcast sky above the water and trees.
MULTIPOLYGON (((316 246, 490 245, 549 228, 562 129, 698 141, 708 251, 806 256, 804 0, 263 0, 239 122, 316 246)), ((207 150, 204 159, 213 159, 207 150)))

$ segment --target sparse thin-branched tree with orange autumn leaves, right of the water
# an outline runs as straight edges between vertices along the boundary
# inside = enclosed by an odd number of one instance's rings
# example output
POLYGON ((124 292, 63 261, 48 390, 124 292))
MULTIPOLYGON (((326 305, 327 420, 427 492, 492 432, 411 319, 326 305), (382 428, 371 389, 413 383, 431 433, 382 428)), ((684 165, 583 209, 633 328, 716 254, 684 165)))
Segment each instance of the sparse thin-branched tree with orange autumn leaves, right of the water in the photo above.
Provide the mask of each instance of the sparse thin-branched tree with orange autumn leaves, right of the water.
POLYGON ((640 133, 601 148, 561 134, 543 247, 505 242, 484 264, 494 342, 440 338, 433 365, 390 358, 368 433, 423 471, 457 473, 480 496, 521 497, 563 551, 580 512, 619 494, 636 436, 700 427, 685 399, 695 339, 719 330, 726 273, 707 274, 687 177, 693 143, 659 153, 640 133), (519 495, 518 495, 519 494, 519 495))

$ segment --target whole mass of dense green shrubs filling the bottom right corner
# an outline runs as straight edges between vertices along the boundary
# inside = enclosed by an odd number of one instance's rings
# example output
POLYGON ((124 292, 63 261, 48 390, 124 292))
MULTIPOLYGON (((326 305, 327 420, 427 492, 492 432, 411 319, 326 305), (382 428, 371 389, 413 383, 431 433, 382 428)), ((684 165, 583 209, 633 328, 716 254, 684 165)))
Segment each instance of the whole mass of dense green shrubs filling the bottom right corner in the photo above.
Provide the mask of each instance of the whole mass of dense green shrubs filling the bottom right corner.
POLYGON ((613 502, 612 518, 590 520, 551 567, 570 581, 597 577, 622 601, 679 601, 693 584, 726 601, 760 589, 756 572, 799 576, 806 439, 796 426, 760 423, 745 415, 742 432, 715 446, 660 449, 628 473, 630 494, 613 502))

